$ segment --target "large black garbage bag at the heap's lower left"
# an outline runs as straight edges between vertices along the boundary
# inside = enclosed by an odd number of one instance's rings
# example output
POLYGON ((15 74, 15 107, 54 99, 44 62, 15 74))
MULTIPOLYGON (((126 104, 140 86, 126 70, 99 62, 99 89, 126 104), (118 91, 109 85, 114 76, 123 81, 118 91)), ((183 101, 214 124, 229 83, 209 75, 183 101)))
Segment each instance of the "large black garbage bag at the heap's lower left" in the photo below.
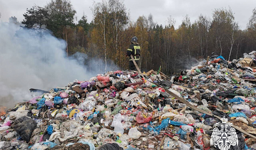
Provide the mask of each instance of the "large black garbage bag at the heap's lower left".
POLYGON ((14 121, 12 128, 19 134, 19 136, 21 136, 24 141, 29 142, 32 132, 36 128, 36 121, 23 116, 14 121))

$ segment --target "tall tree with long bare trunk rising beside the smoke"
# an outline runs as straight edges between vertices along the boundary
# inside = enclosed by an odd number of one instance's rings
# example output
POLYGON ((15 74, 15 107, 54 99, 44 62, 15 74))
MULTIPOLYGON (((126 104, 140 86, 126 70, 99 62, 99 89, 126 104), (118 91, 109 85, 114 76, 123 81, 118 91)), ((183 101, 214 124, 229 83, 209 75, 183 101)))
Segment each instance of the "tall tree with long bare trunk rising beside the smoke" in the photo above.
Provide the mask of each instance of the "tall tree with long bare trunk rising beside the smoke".
MULTIPOLYGON (((48 29, 53 31, 57 37, 66 37, 67 44, 67 26, 75 26, 74 17, 76 10, 73 8, 69 0, 51 0, 46 5, 51 22, 48 24, 48 29), (63 34, 64 30, 64 34, 63 34)), ((69 56, 68 46, 66 49, 69 56)))

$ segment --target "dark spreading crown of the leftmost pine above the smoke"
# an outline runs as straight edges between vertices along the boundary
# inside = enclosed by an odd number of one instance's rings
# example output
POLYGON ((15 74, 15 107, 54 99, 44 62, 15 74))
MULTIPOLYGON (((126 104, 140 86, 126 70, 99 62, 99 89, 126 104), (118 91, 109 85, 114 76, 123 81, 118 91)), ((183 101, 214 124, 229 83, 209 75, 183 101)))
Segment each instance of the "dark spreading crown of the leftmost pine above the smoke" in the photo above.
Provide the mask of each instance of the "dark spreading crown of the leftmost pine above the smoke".
POLYGON ((24 18, 21 22, 27 28, 40 28, 46 29, 49 22, 49 14, 43 7, 33 6, 31 9, 27 9, 27 12, 23 14, 24 18))

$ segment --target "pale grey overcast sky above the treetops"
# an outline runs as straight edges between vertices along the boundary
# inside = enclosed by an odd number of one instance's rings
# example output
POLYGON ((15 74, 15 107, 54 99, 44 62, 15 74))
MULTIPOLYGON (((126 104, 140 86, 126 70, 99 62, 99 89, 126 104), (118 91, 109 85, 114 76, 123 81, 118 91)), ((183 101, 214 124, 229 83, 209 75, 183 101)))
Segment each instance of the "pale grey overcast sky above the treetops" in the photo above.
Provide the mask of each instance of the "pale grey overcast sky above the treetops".
MULTIPOLYGON (((30 9, 34 4, 45 6, 47 1, 49 0, 0 0, 0 21, 8 21, 10 16, 16 16, 18 21, 22 21, 22 14, 27 8, 30 9)), ((71 0, 71 3, 78 19, 84 12, 91 22, 93 16, 90 6, 93 0, 71 0)), ((241 29, 245 29, 252 10, 256 7, 256 0, 124 0, 124 4, 130 11, 132 21, 136 21, 138 16, 148 16, 151 13, 155 22, 165 25, 166 19, 171 15, 176 20, 175 27, 181 24, 185 15, 189 15, 190 21, 194 22, 201 13, 211 17, 215 8, 231 7, 241 29)))

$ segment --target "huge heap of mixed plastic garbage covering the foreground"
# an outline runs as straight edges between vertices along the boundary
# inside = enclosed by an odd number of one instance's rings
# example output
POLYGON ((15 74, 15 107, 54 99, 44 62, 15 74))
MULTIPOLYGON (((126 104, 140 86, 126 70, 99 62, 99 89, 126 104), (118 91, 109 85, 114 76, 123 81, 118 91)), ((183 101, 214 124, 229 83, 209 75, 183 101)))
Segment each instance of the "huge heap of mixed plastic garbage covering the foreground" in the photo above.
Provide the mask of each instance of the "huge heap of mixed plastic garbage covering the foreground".
MULTIPOLYGON (((248 57, 254 61, 254 53, 248 57)), ((228 62, 212 56, 171 78, 151 70, 75 80, 1 116, 0 149, 210 150, 211 134, 221 121, 166 90, 256 135, 256 76, 251 67, 244 58, 228 62)), ((256 149, 255 138, 240 131, 237 136, 232 150, 256 149)))

